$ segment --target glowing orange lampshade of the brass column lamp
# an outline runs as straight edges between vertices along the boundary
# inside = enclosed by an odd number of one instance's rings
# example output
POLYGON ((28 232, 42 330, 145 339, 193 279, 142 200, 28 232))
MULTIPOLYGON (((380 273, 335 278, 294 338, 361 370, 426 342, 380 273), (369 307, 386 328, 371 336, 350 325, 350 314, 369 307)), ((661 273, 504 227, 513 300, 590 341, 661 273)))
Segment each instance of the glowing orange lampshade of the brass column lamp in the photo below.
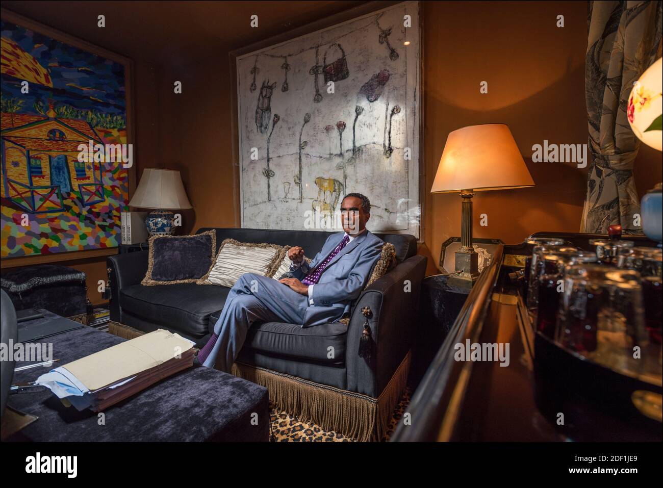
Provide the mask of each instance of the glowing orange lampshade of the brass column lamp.
POLYGON ((431 193, 534 186, 509 126, 469 125, 449 133, 431 193))

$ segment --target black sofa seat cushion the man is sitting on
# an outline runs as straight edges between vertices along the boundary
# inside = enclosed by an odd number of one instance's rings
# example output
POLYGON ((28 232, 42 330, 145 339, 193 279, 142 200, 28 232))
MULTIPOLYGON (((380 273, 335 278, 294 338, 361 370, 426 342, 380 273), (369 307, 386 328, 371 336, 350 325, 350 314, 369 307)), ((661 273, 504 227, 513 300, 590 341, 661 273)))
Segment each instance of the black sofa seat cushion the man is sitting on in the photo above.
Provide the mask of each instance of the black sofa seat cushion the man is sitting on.
MULTIPOLYGON (((220 314, 221 310, 211 314, 210 333, 220 314)), ((296 324, 265 322, 251 326, 245 347, 306 361, 342 364, 345 362, 346 334, 347 327, 339 323, 302 328, 296 324)))

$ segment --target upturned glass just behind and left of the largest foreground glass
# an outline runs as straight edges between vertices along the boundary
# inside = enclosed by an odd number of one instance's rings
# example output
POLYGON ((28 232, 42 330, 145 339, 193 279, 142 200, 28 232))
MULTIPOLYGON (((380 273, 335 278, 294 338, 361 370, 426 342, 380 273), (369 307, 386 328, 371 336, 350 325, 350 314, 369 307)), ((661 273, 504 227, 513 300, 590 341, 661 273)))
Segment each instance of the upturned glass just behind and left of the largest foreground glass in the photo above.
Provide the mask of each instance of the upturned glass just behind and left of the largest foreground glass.
POLYGON ((596 255, 575 247, 559 246, 540 251, 536 260, 536 276, 532 286, 536 308, 530 310, 530 314, 536 330, 552 339, 566 267, 575 263, 595 263, 596 255))

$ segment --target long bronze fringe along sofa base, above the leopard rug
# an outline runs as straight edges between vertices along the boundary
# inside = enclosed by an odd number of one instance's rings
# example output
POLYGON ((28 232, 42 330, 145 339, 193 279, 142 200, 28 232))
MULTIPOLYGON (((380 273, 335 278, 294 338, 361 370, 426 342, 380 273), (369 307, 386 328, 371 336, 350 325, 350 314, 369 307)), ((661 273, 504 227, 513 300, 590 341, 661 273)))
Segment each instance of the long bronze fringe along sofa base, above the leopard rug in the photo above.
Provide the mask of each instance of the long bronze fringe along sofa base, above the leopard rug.
POLYGON ((272 404, 303 422, 339 432, 360 442, 381 440, 400 400, 410 369, 410 351, 378 398, 320 385, 271 369, 235 362, 233 375, 269 390, 272 404))

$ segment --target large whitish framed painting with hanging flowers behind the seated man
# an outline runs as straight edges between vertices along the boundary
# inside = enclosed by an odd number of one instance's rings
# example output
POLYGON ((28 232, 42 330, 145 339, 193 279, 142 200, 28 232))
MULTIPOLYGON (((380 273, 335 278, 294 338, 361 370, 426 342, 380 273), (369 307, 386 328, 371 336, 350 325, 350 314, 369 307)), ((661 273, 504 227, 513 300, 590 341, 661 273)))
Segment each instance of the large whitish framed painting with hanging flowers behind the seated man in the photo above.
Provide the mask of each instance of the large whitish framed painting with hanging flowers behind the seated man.
POLYGON ((242 227, 327 229, 359 192, 370 230, 420 236, 418 2, 241 54, 236 70, 242 227))

